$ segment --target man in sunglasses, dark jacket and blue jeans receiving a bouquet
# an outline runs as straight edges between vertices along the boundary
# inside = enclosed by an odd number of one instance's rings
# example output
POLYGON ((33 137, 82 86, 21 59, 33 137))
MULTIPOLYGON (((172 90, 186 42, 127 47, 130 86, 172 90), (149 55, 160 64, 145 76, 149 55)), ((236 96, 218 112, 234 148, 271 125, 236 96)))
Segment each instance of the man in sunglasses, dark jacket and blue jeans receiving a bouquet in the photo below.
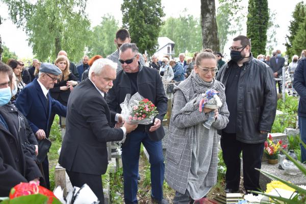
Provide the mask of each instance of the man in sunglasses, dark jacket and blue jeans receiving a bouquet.
POLYGON ((119 61, 123 70, 117 73, 113 88, 107 95, 107 103, 114 113, 121 113, 120 104, 126 94, 138 92, 157 107, 159 114, 151 124, 139 124, 135 131, 126 135, 122 145, 122 166, 125 203, 137 203, 137 178, 140 144, 150 157, 151 197, 153 203, 168 203, 163 199, 164 157, 162 138, 165 136, 161 122, 167 112, 167 97, 158 70, 139 63, 138 47, 135 43, 124 43, 120 47, 119 61))

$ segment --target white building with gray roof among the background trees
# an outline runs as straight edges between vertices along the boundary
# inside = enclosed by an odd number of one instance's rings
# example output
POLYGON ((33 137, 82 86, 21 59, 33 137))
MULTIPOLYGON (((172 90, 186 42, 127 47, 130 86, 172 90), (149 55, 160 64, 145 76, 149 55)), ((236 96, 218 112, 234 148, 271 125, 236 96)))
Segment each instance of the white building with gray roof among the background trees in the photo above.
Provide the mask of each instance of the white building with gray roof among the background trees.
POLYGON ((158 45, 159 47, 154 55, 156 55, 159 60, 162 60, 165 55, 169 55, 170 59, 173 58, 175 43, 172 40, 168 37, 159 37, 158 45))

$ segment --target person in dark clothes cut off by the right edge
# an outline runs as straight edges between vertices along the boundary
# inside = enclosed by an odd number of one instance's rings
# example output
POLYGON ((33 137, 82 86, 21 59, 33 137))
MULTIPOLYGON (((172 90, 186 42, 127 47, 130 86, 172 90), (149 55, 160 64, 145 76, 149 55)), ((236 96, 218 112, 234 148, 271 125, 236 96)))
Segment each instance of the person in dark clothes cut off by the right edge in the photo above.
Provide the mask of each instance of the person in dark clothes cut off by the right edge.
MULTIPOLYGON (((301 140, 306 143, 306 58, 302 58, 294 72, 293 87, 300 96, 298 103, 298 124, 301 140)), ((306 161, 306 149, 300 144, 302 162, 306 161)))

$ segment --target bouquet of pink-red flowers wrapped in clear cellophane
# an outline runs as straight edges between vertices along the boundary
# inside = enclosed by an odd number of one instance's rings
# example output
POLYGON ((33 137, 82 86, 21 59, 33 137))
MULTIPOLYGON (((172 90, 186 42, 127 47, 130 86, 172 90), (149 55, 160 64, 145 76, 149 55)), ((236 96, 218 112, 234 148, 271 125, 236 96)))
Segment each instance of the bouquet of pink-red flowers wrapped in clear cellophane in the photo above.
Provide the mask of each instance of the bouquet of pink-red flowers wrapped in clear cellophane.
POLYGON ((134 124, 150 124, 158 115, 156 106, 150 100, 136 92, 133 96, 126 94, 120 104, 121 115, 125 122, 134 124))

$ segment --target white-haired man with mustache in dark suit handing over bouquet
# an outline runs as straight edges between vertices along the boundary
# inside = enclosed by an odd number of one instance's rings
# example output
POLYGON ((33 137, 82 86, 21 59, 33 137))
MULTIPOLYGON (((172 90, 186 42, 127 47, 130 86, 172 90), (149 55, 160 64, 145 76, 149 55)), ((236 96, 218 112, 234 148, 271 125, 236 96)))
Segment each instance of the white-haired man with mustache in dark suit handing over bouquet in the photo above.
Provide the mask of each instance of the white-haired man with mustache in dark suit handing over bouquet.
MULTIPOLYGON (((113 87, 116 68, 117 64, 111 60, 96 60, 89 70, 89 78, 70 93, 59 158, 71 184, 78 187, 87 184, 100 203, 104 203, 101 174, 108 165, 106 142, 120 141, 137 127, 128 123, 120 128, 110 126, 115 114, 111 114, 104 95, 113 87)), ((122 122, 120 115, 116 118, 122 122)))

